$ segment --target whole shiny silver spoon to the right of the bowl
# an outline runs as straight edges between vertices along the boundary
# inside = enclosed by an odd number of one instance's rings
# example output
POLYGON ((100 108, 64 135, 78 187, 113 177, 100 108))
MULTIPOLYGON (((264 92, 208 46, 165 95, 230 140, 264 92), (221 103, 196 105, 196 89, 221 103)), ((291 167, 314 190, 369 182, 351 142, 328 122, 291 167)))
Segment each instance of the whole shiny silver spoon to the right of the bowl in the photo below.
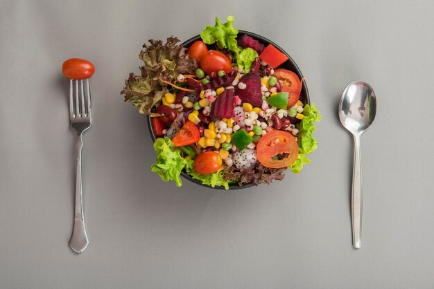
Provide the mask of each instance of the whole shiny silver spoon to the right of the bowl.
POLYGON ((362 230, 362 171, 360 139, 374 121, 376 97, 372 87, 366 82, 348 84, 340 97, 339 119, 342 125, 354 136, 353 185, 351 189, 351 228, 353 247, 361 248, 362 230))

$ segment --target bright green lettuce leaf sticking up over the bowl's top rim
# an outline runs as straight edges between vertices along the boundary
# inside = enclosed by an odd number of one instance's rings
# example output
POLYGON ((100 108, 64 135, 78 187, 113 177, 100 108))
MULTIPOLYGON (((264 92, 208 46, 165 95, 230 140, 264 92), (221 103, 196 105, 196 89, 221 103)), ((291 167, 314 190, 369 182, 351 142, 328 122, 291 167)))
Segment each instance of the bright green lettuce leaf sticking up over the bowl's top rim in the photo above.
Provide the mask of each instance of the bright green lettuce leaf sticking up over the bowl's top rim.
POLYGON ((209 26, 200 33, 200 37, 206 44, 216 43, 218 48, 228 48, 231 51, 239 51, 241 48, 238 47, 236 41, 236 35, 238 35, 238 29, 235 29, 234 17, 228 16, 227 22, 225 24, 221 23, 218 17, 216 17, 216 25, 209 26))

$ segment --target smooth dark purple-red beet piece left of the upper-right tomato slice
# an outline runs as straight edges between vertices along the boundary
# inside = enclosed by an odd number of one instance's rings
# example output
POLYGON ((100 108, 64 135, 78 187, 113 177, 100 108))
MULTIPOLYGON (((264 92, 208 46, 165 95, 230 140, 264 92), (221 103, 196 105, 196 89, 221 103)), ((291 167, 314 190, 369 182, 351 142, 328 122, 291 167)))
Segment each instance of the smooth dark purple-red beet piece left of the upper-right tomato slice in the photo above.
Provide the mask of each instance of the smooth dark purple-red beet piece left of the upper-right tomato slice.
POLYGON ((261 76, 259 73, 248 73, 243 75, 236 86, 236 94, 241 98, 241 101, 252 104, 253 107, 261 107, 262 91, 261 91, 261 76), (245 88, 240 88, 240 83, 245 84, 245 88))

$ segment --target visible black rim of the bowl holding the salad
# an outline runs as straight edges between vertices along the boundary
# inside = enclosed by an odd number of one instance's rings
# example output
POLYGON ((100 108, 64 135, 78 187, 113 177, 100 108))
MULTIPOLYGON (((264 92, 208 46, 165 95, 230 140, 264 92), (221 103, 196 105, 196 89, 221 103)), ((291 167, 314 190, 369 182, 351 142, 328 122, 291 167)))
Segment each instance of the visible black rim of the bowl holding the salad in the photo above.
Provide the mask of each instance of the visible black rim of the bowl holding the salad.
MULTIPOLYGON (((257 35, 255 33, 244 31, 244 30, 238 30, 238 35, 241 36, 244 34, 249 35, 249 36, 253 37, 254 39, 259 40, 265 46, 267 46, 268 44, 272 44, 272 46, 275 46, 275 48, 279 49, 281 51, 281 53, 284 53, 288 57, 288 60, 286 60, 286 62, 284 62, 284 64, 281 64, 280 67, 286 68, 290 71, 293 71, 295 74, 298 75, 298 77, 300 77, 300 80, 303 78, 303 75, 302 75, 302 72, 300 71, 300 68, 298 68, 298 66, 297 66, 297 64, 295 64, 294 60, 280 46, 275 44, 273 41, 270 41, 270 40, 266 39, 265 37, 262 37, 261 35, 257 35)), ((196 40, 201 40, 200 35, 196 35, 195 37, 191 37, 189 40, 184 41, 184 43, 182 43, 181 45, 188 48, 196 40)), ((302 92, 300 93, 300 100, 304 104, 311 104, 311 102, 309 100, 309 91, 307 89, 306 81, 303 81, 303 82, 304 83, 302 84, 302 92)), ((153 142, 155 142, 155 134, 153 131, 153 126, 152 126, 151 121, 150 121, 150 116, 147 115, 147 118, 148 118, 148 127, 149 127, 150 137, 152 138, 153 142)), ((200 182, 200 180, 196 180, 196 179, 192 178, 191 176, 186 174, 185 171, 181 171, 181 176, 184 177, 186 180, 189 180, 189 181, 196 183, 198 185, 201 185, 204 187, 210 187, 209 185, 203 185, 200 182)), ((237 185, 237 184, 229 185, 229 189, 245 189, 248 187, 252 187, 252 184, 244 184, 242 186, 237 185)), ((216 186, 216 187, 214 187, 214 189, 225 189, 225 187, 216 186)))

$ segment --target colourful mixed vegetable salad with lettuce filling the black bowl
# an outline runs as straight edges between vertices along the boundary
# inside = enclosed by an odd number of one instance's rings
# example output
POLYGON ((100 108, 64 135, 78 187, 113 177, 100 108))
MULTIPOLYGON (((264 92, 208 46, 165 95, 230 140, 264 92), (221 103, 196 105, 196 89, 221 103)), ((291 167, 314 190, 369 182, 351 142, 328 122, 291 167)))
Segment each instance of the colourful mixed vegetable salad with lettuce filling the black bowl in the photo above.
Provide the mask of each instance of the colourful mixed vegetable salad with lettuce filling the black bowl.
POLYGON ((157 137, 151 170, 182 185, 181 171, 211 187, 270 183, 300 173, 317 141, 315 104, 299 99, 302 80, 288 57, 249 35, 234 17, 200 33, 189 48, 151 39, 141 75, 125 80, 125 102, 150 115, 157 137))

